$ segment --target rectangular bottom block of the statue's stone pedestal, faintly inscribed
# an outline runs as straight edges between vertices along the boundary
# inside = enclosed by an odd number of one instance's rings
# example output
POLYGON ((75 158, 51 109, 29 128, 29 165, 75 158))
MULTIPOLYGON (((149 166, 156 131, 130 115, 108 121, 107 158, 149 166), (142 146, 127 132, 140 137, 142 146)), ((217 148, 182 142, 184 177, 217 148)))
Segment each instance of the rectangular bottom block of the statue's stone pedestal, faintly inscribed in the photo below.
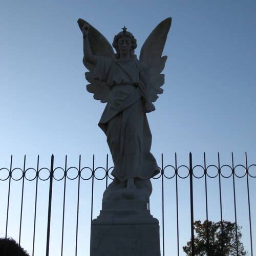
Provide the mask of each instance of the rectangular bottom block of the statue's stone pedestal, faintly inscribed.
POLYGON ((160 256, 159 225, 92 225, 90 256, 160 256))

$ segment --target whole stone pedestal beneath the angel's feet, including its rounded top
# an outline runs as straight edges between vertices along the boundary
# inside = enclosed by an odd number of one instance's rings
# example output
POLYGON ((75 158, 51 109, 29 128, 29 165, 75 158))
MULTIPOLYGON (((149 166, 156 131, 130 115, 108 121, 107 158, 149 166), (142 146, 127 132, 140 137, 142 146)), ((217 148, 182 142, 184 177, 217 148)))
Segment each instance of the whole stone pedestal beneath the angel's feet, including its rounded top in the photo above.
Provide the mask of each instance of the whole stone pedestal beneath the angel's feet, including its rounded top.
POLYGON ((151 182, 136 185, 105 190, 100 215, 92 221, 90 256, 160 256, 159 221, 147 209, 151 182))

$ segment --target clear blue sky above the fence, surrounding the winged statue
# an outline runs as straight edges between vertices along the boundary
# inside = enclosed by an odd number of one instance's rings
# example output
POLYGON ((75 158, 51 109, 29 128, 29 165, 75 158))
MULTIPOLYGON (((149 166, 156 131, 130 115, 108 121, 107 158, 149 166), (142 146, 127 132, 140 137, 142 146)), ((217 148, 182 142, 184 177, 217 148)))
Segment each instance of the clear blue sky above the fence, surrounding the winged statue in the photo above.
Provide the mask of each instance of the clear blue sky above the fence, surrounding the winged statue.
POLYGON ((37 155, 42 165, 52 154, 61 164, 68 155, 72 165, 79 154, 90 163, 95 154, 100 166, 110 154, 97 126, 104 104, 86 90, 78 18, 111 44, 125 25, 139 56, 151 31, 172 17, 164 92, 147 114, 152 153, 173 164, 177 152, 182 165, 189 152, 194 164, 203 164, 204 152, 208 164, 218 163, 218 152, 222 164, 231 164, 231 152, 235 164, 245 164, 247 152, 255 164, 255 11, 253 0, 2 0, 0 168, 11 155, 20 167, 24 155, 36 166, 37 155))

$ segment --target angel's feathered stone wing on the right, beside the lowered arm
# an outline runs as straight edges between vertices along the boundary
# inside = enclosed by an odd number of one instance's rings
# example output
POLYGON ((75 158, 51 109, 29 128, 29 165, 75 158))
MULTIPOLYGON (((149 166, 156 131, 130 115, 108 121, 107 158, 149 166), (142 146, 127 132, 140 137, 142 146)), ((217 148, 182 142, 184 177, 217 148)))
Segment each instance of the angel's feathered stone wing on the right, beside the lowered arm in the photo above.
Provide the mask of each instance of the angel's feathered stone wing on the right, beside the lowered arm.
POLYGON ((151 101, 158 99, 157 94, 162 94, 161 86, 164 84, 164 69, 167 56, 162 56, 167 34, 172 24, 172 18, 166 18, 152 31, 145 40, 141 51, 140 60, 143 61, 151 72, 151 101))

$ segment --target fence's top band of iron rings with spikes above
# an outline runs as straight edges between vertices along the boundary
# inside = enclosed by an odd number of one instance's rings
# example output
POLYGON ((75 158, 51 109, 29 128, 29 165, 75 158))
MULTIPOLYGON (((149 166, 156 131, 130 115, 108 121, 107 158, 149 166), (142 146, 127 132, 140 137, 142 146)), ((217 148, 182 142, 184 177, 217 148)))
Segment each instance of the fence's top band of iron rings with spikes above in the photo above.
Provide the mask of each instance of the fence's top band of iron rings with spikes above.
MULTIPOLYGON (((191 153, 190 153, 191 155, 191 153)), ((53 156, 52 156, 53 157, 53 156)), ((192 159, 192 158, 190 158, 192 159)), ((192 160, 190 160, 192 161, 192 160)), ((67 166, 67 156, 66 161, 63 166, 52 166, 53 178, 56 181, 61 181, 63 179, 75 180, 80 178, 82 180, 90 180, 95 178, 97 180, 110 179, 113 180, 114 177, 111 175, 111 170, 114 166, 108 166, 108 155, 106 156, 106 166, 95 167, 95 161, 93 157, 93 162, 91 166, 81 166, 81 156, 79 156, 79 161, 76 166, 67 166)), ((49 161, 50 163, 50 161, 49 161)), ((218 153, 218 165, 210 164, 206 165, 205 154, 204 154, 204 165, 178 165, 177 156, 175 154, 174 164, 163 164, 163 155, 161 159, 161 167, 159 167, 159 175, 153 177, 153 179, 159 179, 162 176, 166 179, 173 179, 176 176, 185 179, 192 172, 194 178, 201 179, 203 177, 216 178, 221 176, 223 178, 230 178, 235 176, 237 178, 243 178, 249 176, 251 178, 256 178, 256 164, 247 164, 247 154, 245 154, 245 164, 233 164, 233 154, 232 154, 232 164, 220 165, 220 157, 218 153)), ((37 158, 37 167, 26 167, 26 156, 24 158, 23 167, 12 168, 12 157, 10 162, 10 167, 0 168, 0 180, 5 181, 12 179, 19 181, 26 179, 28 181, 33 181, 39 179, 41 181, 47 181, 51 177, 51 167, 40 167, 39 168, 39 156, 37 158)))

